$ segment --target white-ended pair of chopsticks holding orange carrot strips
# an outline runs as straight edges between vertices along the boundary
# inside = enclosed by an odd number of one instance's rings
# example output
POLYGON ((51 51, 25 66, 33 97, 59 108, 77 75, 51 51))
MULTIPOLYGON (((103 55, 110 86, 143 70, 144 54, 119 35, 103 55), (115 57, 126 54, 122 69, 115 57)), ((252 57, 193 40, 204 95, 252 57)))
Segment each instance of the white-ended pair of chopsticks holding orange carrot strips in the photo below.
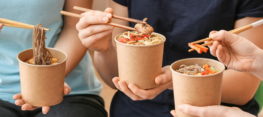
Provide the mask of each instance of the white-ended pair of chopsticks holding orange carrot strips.
MULTIPOLYGON (((242 26, 242 27, 239 27, 239 28, 236 28, 236 29, 233 29, 233 30, 230 30, 228 31, 229 33, 233 33, 233 34, 238 34, 238 33, 241 33, 243 31, 246 31, 248 29, 251 29, 251 28, 254 28, 256 26, 259 26, 259 25, 262 25, 263 24, 263 20, 258 20, 254 23, 251 23, 251 24, 248 24, 248 25, 245 25, 245 26, 242 26)), ((205 42, 205 41, 208 41, 204 44, 201 44, 201 46, 207 46, 209 44, 212 44, 214 40, 212 40, 211 38, 206 38, 206 39, 201 39, 201 40, 197 40, 197 41, 194 41, 194 42, 191 42, 190 44, 194 45, 194 44, 197 44, 197 43, 200 43, 200 42, 205 42)), ((200 46, 200 45, 197 45, 197 46, 200 46)), ((193 51, 194 49, 190 49, 188 50, 189 52, 193 51)))

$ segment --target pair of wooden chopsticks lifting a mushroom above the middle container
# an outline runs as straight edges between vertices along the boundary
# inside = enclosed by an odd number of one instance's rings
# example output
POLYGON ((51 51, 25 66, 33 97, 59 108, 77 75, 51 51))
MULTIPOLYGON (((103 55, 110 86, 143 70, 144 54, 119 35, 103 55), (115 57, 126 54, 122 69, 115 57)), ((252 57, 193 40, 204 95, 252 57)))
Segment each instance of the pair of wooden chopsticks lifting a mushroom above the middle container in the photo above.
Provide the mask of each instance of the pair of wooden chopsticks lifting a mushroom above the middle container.
MULTIPOLYGON (((83 12, 92 11, 91 9, 82 8, 82 7, 78 7, 78 6, 74 6, 73 9, 78 10, 78 11, 83 11, 83 12)), ((82 18, 83 17, 82 15, 74 14, 74 13, 70 13, 70 12, 66 12, 66 11, 61 11, 60 13, 63 15, 66 15, 66 16, 74 17, 74 18, 82 18)), ((112 18, 136 22, 136 23, 141 23, 141 24, 147 23, 147 22, 142 21, 142 20, 136 20, 136 19, 126 18, 126 17, 122 17, 122 16, 116 16, 116 15, 112 15, 112 18)), ((113 22, 108 22, 106 24, 111 25, 111 26, 115 26, 115 27, 119 27, 119 28, 124 28, 127 30, 137 31, 135 28, 125 26, 125 25, 121 25, 121 24, 117 24, 117 23, 113 23, 113 22)))

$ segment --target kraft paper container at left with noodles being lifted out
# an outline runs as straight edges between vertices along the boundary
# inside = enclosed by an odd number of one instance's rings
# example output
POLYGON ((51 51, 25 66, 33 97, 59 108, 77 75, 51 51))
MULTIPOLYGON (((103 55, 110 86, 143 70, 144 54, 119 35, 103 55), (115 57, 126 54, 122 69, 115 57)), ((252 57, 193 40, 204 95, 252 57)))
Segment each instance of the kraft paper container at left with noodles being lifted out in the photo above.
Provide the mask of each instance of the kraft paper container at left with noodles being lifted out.
POLYGON ((21 95, 25 103, 33 106, 52 106, 63 100, 66 60, 65 52, 47 48, 53 58, 62 60, 52 65, 32 65, 24 61, 33 57, 33 49, 20 52, 19 62, 21 95))

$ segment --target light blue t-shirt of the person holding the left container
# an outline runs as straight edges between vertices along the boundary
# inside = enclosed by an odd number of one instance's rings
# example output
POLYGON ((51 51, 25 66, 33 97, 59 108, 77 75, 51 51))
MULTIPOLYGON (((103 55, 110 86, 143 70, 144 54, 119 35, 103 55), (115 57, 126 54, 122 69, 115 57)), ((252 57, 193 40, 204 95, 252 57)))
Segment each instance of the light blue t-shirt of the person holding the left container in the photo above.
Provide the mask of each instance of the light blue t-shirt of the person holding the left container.
MULTIPOLYGON (((63 26, 60 11, 64 0, 0 0, 0 18, 27 24, 41 23, 49 28, 45 39, 53 47, 63 26)), ((0 99, 14 103, 14 94, 21 92, 17 54, 32 48, 32 29, 4 26, 0 33, 0 99)), ((96 78, 88 53, 65 78, 73 94, 100 95, 101 82, 96 78)))

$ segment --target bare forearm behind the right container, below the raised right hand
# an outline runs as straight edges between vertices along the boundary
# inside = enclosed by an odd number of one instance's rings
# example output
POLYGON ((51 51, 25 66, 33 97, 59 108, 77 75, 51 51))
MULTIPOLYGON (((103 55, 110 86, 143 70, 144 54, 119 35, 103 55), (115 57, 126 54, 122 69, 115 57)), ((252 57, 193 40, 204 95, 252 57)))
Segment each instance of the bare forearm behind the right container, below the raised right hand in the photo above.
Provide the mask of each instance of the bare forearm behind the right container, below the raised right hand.
POLYGON ((221 102, 244 105, 254 97, 260 79, 247 72, 225 70, 221 102))

